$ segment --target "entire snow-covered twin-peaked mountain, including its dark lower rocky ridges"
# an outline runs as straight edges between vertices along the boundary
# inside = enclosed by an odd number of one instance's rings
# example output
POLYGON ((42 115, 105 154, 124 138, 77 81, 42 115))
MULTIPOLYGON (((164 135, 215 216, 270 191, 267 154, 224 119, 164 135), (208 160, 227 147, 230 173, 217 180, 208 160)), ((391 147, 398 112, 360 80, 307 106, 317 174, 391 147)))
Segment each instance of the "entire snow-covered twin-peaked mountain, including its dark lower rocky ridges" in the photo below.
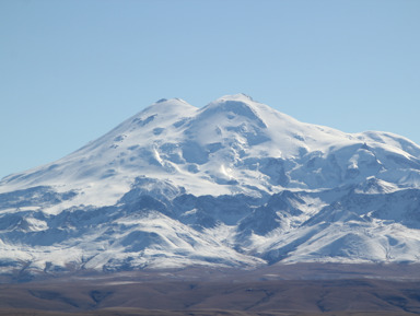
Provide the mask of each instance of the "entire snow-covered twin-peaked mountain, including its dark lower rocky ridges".
POLYGON ((161 100, 0 182, 0 269, 419 261, 420 147, 238 94, 161 100))

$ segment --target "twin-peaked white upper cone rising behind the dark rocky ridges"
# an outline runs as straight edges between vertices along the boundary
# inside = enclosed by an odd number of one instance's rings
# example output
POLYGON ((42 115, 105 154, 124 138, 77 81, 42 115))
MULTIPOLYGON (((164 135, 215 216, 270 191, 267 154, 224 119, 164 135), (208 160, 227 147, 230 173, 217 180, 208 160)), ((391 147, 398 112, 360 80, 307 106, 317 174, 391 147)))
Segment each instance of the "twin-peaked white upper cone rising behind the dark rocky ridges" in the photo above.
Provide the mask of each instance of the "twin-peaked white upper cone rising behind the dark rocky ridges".
POLYGON ((420 187, 420 148, 392 133, 300 122, 245 94, 203 108, 160 100, 73 154, 4 178, 0 191, 84 183, 117 197, 143 175, 196 195, 334 188, 368 177, 420 187))

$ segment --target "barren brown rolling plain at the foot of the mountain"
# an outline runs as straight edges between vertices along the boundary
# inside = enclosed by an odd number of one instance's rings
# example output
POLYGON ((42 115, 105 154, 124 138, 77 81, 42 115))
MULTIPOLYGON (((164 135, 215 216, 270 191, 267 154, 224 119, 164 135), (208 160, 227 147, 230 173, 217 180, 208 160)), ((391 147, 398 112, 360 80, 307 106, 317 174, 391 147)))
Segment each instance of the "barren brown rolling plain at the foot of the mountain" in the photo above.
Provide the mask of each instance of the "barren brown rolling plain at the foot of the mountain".
POLYGON ((86 273, 0 284, 0 315, 415 315, 419 266, 86 273))

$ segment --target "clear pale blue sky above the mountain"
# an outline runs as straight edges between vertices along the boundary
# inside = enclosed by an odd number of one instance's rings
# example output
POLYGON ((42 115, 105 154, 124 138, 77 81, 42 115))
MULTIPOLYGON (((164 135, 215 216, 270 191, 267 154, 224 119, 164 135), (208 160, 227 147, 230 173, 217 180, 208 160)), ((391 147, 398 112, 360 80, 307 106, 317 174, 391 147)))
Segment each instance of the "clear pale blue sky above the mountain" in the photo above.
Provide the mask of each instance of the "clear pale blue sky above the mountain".
POLYGON ((0 178, 162 97, 420 143, 419 0, 0 0, 0 178))

